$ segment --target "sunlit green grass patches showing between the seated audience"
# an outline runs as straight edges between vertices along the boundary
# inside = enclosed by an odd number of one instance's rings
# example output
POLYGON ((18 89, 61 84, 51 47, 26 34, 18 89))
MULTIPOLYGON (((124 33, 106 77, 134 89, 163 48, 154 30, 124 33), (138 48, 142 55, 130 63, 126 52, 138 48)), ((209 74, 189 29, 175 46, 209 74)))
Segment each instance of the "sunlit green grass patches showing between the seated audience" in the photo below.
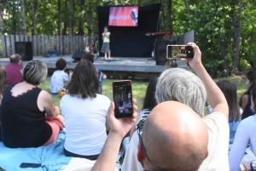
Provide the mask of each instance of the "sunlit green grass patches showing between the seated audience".
MULTIPOLYGON (((231 82, 236 83, 237 86, 237 94, 238 98, 241 97, 241 95, 247 90, 245 82, 242 77, 229 77, 225 78, 230 80, 231 82)), ((220 79, 218 79, 220 80, 220 79)), ((216 82, 218 80, 215 80, 216 82)), ((108 96, 110 100, 113 99, 112 97, 112 82, 115 81, 113 79, 107 79, 103 85, 103 92, 102 94, 108 96)), ((137 100, 137 106, 138 109, 142 109, 143 107, 143 98, 146 94, 146 89, 148 86, 148 82, 139 82, 137 80, 132 81, 132 92, 133 92, 133 98, 137 100)), ((39 88, 42 88, 49 92, 50 87, 50 77, 47 77, 47 79, 42 83, 39 88)), ((60 105, 60 98, 58 95, 52 95, 53 101, 55 105, 60 105)))

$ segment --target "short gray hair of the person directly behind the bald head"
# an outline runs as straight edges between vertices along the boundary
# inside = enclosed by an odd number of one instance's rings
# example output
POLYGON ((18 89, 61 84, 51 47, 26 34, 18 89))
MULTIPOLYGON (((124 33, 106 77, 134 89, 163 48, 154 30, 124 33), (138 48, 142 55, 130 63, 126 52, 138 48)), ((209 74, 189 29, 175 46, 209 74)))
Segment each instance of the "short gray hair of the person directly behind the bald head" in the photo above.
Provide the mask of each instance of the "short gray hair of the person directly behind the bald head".
POLYGON ((180 68, 163 71, 156 84, 157 103, 174 100, 188 105, 201 117, 204 117, 204 105, 207 90, 199 77, 180 68))

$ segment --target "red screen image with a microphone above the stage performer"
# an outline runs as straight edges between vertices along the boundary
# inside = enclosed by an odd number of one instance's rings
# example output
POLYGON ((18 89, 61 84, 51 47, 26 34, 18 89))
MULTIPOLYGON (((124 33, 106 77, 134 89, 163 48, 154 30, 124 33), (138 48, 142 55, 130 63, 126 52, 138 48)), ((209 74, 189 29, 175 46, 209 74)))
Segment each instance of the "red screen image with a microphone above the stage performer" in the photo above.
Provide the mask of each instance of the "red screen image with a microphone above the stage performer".
POLYGON ((137 26, 138 7, 110 7, 108 26, 137 26))

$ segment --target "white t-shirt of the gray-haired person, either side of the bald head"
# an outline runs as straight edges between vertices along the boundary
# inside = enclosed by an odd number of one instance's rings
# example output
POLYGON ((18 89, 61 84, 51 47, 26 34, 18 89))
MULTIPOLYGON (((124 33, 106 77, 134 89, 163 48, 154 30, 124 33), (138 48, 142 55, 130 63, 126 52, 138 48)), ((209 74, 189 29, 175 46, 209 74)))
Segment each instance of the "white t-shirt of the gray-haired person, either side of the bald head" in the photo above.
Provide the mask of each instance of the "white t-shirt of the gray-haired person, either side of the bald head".
MULTIPOLYGON (((208 157, 201 163, 202 170, 230 170, 228 151, 230 127, 224 114, 213 112, 202 118, 208 128, 208 157)), ((130 145, 125 153, 122 171, 142 171, 143 167, 137 161, 137 145, 139 139, 137 131, 132 135, 130 145)))

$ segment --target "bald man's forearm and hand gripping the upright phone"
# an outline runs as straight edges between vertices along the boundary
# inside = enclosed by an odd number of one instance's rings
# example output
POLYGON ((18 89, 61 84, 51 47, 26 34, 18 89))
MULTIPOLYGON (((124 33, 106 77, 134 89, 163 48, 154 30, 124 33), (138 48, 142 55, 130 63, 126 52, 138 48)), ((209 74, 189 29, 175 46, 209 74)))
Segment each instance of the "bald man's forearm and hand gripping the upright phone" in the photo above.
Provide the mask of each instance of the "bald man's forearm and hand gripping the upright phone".
MULTIPOLYGON (((136 100, 133 101, 133 104, 136 104, 136 100)), ((133 105, 134 113, 133 116, 129 118, 125 117, 117 119, 114 117, 113 110, 114 104, 111 102, 108 109, 108 123, 110 126, 110 132, 105 145, 103 146, 102 152, 91 171, 113 171, 115 169, 115 162, 119 153, 119 146, 125 137, 125 134, 130 131, 132 123, 136 122, 136 105, 133 105)))

